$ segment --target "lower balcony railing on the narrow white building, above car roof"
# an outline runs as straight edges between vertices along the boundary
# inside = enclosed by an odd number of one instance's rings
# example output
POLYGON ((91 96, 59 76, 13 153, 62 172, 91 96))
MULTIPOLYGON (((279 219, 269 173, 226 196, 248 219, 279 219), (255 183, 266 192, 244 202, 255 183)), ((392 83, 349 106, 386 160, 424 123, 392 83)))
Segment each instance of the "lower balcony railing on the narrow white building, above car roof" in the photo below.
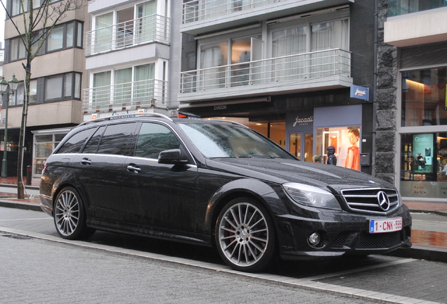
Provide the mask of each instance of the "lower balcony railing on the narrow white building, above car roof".
POLYGON ((82 111, 84 114, 135 110, 153 106, 166 107, 168 82, 141 80, 103 87, 84 89, 82 111))

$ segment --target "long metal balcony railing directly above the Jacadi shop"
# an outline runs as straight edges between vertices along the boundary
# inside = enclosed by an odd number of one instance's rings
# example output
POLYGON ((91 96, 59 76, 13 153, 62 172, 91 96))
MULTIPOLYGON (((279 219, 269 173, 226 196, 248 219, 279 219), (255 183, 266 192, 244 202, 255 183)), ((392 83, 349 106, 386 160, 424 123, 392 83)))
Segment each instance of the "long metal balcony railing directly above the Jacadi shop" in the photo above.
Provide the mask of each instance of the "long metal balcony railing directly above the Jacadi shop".
POLYGON ((330 49, 181 72, 181 93, 312 78, 351 77, 351 53, 330 49))

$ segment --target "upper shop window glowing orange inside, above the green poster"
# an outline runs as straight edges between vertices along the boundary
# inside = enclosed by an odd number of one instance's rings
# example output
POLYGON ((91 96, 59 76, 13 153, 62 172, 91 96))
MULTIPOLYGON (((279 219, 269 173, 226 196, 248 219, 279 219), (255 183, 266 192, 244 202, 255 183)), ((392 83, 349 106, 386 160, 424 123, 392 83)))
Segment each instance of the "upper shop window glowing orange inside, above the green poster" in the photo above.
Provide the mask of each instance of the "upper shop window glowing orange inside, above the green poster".
POLYGON ((402 127, 447 125, 447 68, 402 72, 402 127))

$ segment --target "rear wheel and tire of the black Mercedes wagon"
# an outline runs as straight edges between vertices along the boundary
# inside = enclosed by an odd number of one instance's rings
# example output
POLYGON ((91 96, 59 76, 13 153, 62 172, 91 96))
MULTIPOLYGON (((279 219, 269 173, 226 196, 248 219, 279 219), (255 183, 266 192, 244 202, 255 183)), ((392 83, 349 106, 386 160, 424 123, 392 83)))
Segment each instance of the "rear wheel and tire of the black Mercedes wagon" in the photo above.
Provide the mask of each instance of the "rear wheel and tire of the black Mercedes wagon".
POLYGON ((53 218, 56 230, 63 239, 86 239, 95 232, 87 227, 84 205, 72 187, 65 187, 58 194, 53 218))

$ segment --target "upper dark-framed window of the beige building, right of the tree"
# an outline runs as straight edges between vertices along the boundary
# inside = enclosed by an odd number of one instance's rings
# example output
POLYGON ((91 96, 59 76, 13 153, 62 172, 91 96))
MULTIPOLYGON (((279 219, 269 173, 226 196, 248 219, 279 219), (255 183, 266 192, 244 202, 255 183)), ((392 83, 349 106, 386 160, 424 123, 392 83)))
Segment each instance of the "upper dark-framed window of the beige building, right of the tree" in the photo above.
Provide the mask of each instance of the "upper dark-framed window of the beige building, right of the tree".
POLYGON ((76 21, 55 27, 46 40, 46 51, 71 47, 82 47, 82 23, 76 21))

